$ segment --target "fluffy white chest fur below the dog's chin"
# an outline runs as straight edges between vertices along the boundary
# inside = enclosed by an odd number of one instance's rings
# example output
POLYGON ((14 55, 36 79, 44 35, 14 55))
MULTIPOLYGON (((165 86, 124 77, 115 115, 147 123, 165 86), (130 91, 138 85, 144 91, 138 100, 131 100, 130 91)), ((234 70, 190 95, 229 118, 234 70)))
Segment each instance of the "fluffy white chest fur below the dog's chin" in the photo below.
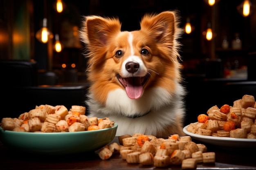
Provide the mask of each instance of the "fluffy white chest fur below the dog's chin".
POLYGON ((180 85, 177 89, 177 94, 170 95, 163 88, 152 88, 140 99, 130 99, 120 88, 108 94, 104 106, 89 96, 90 117, 108 117, 117 122, 117 136, 134 133, 156 135, 166 126, 175 124, 176 115, 184 114, 180 107, 183 106, 179 99, 181 94, 178 94, 183 93, 183 89, 180 85), (140 115, 144 116, 138 117, 140 115), (133 116, 136 118, 130 118, 133 116))

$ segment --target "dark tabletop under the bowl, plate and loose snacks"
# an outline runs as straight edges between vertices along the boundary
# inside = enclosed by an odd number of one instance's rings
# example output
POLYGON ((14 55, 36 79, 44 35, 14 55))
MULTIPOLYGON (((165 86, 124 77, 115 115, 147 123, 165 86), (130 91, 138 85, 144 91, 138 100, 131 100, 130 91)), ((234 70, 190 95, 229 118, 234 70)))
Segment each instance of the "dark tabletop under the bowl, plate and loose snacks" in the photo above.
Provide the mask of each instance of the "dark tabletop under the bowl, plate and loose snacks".
MULTIPOLYGON (((196 141, 197 144, 204 144, 196 141)), ((118 143, 118 137, 112 142, 118 143)), ((198 163, 197 169, 210 170, 256 170, 256 148, 239 149, 207 146, 208 152, 216 153, 216 163, 198 163)), ((97 152, 79 155, 33 155, 21 153, 8 148, 0 142, 0 170, 181 170, 181 166, 168 166, 156 168, 154 166, 141 166, 128 164, 119 154, 112 155, 108 160, 101 160, 97 152)))

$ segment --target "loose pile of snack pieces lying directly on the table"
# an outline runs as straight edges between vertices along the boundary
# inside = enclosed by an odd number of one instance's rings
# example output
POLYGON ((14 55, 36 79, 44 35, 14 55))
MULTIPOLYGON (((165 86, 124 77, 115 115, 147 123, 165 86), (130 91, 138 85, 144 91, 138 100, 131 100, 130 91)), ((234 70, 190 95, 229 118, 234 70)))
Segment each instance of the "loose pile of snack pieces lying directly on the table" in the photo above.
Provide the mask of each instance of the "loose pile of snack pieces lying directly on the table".
POLYGON ((119 136, 119 144, 112 143, 99 151, 102 160, 118 153, 127 163, 142 166, 182 166, 195 169, 197 163, 215 163, 215 152, 207 152, 204 144, 196 144, 190 136, 170 135, 168 139, 135 133, 119 136))

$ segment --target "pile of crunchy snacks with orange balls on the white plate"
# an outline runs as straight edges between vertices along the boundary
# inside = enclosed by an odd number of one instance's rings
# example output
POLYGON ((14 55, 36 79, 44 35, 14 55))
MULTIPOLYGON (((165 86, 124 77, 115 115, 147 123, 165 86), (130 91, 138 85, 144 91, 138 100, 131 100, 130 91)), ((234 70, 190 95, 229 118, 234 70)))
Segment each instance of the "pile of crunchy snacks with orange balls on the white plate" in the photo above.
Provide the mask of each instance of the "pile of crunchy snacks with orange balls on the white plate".
POLYGON ((256 139, 256 102, 254 96, 244 95, 220 108, 212 106, 207 114, 198 115, 198 121, 189 124, 187 131, 198 135, 256 139))

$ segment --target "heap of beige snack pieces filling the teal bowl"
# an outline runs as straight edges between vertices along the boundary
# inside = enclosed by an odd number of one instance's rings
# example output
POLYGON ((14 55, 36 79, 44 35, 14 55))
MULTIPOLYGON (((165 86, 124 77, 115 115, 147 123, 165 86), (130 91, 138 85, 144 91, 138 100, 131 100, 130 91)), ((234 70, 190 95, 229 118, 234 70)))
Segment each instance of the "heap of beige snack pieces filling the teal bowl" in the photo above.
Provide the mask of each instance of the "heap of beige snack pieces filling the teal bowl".
POLYGON ((87 117, 84 106, 72 106, 68 110, 63 105, 36 106, 18 118, 2 118, 0 126, 3 130, 16 132, 77 132, 111 128, 115 121, 109 118, 98 119, 87 117))

